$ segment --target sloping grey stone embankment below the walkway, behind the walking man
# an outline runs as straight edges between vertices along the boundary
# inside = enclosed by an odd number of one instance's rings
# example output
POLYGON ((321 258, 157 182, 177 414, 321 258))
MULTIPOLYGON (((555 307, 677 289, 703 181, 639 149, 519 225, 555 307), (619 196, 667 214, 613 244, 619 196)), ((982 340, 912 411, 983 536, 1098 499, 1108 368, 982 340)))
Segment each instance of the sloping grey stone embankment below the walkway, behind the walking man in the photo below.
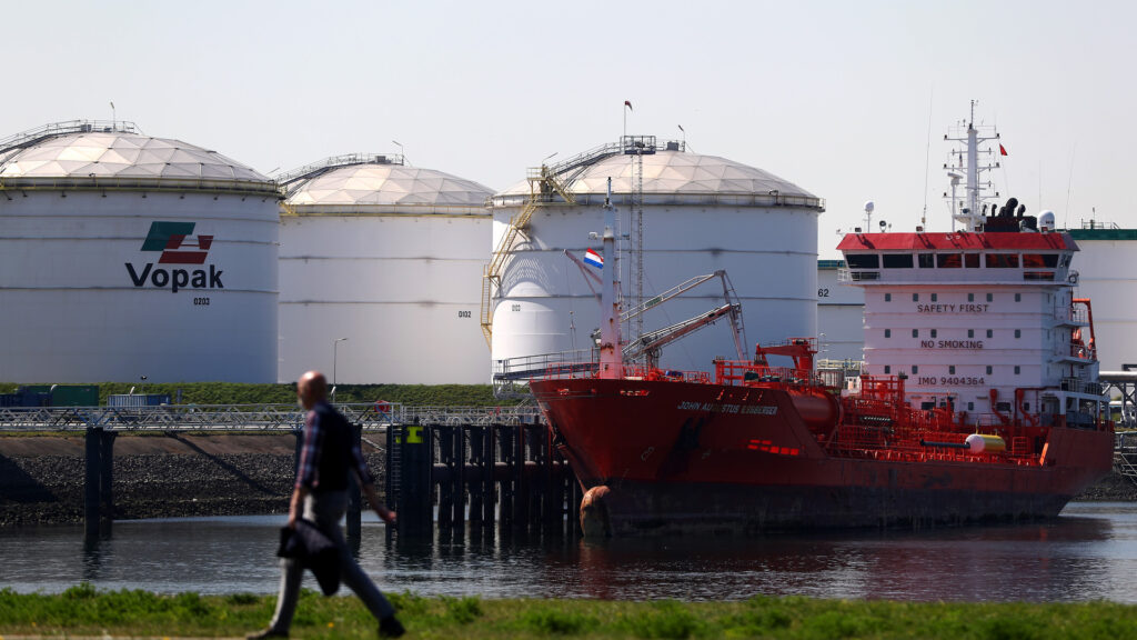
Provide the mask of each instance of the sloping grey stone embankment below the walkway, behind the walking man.
MULTIPOLYGON (((382 477, 383 452, 363 446, 382 477)), ((294 457, 288 434, 119 435, 115 519, 285 512, 294 457)), ((84 468, 82 434, 0 437, 0 527, 82 523, 84 468)))

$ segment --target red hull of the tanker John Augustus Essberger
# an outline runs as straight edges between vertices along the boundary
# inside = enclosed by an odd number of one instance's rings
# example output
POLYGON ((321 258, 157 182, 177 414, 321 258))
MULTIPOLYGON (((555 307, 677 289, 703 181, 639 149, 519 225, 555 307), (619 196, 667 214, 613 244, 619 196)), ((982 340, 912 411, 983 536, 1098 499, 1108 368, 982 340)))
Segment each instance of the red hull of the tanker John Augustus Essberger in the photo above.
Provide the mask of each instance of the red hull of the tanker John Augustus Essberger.
POLYGON ((1034 459, 835 456, 819 443, 824 411, 782 388, 629 379, 531 386, 581 484, 611 490, 614 533, 1051 517, 1112 466, 1109 430, 1051 428, 1045 458, 1034 459))

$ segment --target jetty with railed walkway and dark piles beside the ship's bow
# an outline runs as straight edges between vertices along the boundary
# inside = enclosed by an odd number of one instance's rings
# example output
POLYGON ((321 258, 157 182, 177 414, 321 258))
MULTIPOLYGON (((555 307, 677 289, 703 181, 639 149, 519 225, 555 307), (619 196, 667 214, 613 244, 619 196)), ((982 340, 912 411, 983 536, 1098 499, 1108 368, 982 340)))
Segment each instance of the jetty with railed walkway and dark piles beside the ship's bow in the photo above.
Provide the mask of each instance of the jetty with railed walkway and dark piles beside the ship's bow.
MULTIPOLYGON (((573 534, 581 491, 536 407, 337 404, 356 436, 385 451, 387 501, 399 512, 397 535, 434 527, 479 532, 573 534)), ((84 434, 84 522, 105 532, 114 514, 114 445, 119 434, 287 433, 299 460, 305 412, 294 404, 57 407, 0 409, 0 433, 84 434)), ((363 509, 352 491, 348 535, 363 509)), ((389 534, 393 532, 388 530, 389 534)))

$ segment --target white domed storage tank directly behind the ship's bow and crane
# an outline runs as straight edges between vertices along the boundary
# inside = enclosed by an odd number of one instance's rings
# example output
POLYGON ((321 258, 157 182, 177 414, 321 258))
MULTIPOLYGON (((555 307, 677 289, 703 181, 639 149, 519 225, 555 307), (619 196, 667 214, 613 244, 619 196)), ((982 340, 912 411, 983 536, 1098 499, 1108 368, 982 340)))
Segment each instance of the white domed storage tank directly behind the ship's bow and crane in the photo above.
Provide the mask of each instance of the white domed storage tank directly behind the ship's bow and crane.
MULTIPOLYGON (((556 174, 574 204, 547 184, 546 202, 507 252, 492 301, 495 361, 589 348, 599 305, 564 252, 580 257, 589 247, 600 252, 608 178, 619 208, 619 244, 644 247, 641 278, 632 268, 636 254, 623 252, 625 307, 637 300, 637 281, 642 282, 639 300, 646 301, 688 278, 723 269, 742 303, 748 354, 754 343, 815 335, 818 216, 824 211, 816 196, 760 169, 687 153, 681 142, 657 148, 652 137, 626 137, 542 171, 556 174), (636 203, 642 203, 640 215, 633 215, 636 203)), ((495 247, 501 248, 503 235, 531 194, 540 192, 531 183, 539 184, 526 180, 493 196, 495 247)), ((707 282, 647 312, 642 330, 669 327, 721 304, 722 286, 707 282)), ((735 358, 725 320, 666 346, 659 362, 705 371, 716 356, 735 358)))

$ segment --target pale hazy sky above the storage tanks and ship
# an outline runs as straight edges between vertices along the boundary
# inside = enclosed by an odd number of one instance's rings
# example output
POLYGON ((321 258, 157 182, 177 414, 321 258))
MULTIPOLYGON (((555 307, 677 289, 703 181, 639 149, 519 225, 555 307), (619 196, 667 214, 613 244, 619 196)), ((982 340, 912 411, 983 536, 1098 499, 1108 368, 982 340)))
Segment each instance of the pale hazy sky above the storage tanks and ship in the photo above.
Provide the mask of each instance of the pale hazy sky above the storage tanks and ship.
POLYGON ((762 167, 863 216, 949 225, 947 129, 979 100, 1004 195, 1137 227, 1134 2, 50 2, 0 8, 0 137, 132 120, 268 173, 351 151, 505 189, 629 133, 762 167), (1039 203, 1039 195, 1041 203, 1039 203), (1069 206, 1068 206, 1069 203, 1069 206))

